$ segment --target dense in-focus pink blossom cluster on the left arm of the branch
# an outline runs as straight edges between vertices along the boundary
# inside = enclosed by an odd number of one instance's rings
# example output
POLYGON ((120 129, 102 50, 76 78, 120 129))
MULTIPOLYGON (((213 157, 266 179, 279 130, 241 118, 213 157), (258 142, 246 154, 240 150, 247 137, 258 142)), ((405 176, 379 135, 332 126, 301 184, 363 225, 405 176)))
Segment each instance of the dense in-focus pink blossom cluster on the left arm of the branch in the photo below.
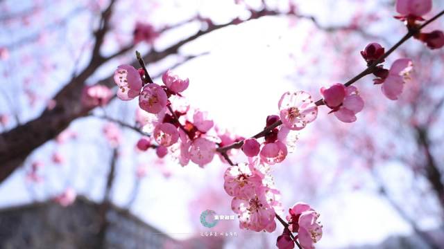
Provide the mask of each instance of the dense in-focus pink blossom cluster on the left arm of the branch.
POLYGON ((137 123, 144 131, 153 134, 152 139, 141 138, 137 148, 142 151, 156 148, 160 158, 170 151, 182 166, 190 160, 200 167, 210 163, 216 154, 216 146, 223 141, 207 113, 198 109, 191 111, 182 96, 189 80, 182 80, 167 71, 162 75, 161 86, 147 75, 144 68, 137 70, 130 65, 119 66, 114 72, 114 82, 119 86, 117 97, 121 100, 139 98, 137 123))

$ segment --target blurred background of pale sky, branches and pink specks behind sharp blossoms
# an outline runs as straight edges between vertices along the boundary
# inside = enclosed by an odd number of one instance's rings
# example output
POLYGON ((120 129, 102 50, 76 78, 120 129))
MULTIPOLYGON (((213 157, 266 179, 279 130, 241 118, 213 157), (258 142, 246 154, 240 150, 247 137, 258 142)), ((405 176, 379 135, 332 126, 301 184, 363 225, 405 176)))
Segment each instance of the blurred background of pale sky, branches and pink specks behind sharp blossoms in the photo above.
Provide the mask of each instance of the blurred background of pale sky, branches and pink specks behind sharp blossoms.
MULTIPOLYGON (((368 43, 398 42, 406 30, 394 5, 0 0, 0 248, 86 248, 82 241, 98 243, 92 248, 275 248, 280 224, 271 234, 239 230, 236 219, 200 224, 204 210, 233 214, 219 158, 181 167, 152 149, 137 151, 141 134, 121 125, 135 127, 137 100, 84 111, 81 90, 113 88, 114 69, 137 65, 139 50, 155 82, 173 68, 189 77, 191 106, 208 111, 220 129, 252 136, 278 113, 285 91, 320 98, 321 86, 365 68, 359 51, 368 43), (153 26, 152 39, 135 43, 137 22, 153 26), (66 208, 64 193, 77 196, 66 208)), ((427 17, 442 8, 434 1, 427 17)), ((443 20, 427 30, 435 28, 443 20)), ((410 40, 386 65, 400 57, 415 65, 400 100, 386 99, 372 77, 359 80, 366 106, 357 122, 321 108, 293 153, 273 166, 284 209, 305 201, 321 213, 318 248, 444 248, 444 53, 410 40)))

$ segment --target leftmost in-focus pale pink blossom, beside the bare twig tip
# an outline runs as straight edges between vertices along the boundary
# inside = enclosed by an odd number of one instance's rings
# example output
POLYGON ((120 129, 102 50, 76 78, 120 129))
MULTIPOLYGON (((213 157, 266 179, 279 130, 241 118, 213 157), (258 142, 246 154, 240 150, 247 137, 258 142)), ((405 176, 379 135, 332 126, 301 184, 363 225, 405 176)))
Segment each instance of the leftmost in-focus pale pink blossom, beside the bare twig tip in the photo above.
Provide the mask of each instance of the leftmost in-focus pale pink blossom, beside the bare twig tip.
POLYGON ((119 86, 117 98, 121 100, 133 100, 140 94, 142 78, 136 68, 130 65, 120 65, 114 71, 114 83, 119 86))

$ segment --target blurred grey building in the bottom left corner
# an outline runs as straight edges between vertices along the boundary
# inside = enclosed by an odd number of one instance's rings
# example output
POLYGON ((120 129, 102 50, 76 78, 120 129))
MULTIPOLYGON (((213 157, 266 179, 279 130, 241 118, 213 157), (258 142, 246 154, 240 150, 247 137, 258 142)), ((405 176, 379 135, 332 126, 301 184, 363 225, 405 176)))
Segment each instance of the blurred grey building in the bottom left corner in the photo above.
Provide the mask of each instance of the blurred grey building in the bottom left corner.
POLYGON ((0 248, 182 248, 114 205, 78 198, 64 208, 53 201, 0 210, 0 248), (105 222, 103 222, 103 217, 105 222))

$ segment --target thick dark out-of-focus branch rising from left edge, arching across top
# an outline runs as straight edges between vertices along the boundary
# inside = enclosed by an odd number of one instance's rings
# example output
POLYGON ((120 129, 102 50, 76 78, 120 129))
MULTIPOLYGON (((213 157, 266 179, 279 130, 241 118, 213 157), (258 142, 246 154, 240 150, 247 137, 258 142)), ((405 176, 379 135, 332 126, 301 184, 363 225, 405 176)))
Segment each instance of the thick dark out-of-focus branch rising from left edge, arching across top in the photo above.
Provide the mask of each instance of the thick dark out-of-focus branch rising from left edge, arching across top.
MULTIPOLYGON (((192 19, 185 20, 178 25, 157 29, 150 24, 136 24, 133 34, 133 42, 123 46, 111 55, 102 55, 101 46, 103 46, 106 35, 112 31, 112 26, 110 26, 108 22, 113 14, 113 4, 115 2, 116 1, 110 1, 108 7, 105 8, 101 14, 101 25, 94 31, 94 48, 92 48, 91 59, 89 60, 89 63, 87 63, 87 66, 85 66, 82 71, 78 72, 65 83, 65 86, 63 86, 52 98, 51 105, 49 105, 49 107, 40 116, 34 120, 26 122, 25 124, 19 124, 17 127, 14 127, 13 129, 1 134, 2 141, 0 142, 0 161, 2 162, 2 165, 0 165, 0 182, 10 176, 15 169, 22 165, 25 158, 31 154, 34 149, 40 147, 40 145, 44 144, 44 142, 55 138, 58 133, 66 129, 73 120, 87 116, 89 111, 96 107, 83 106, 80 105, 79 102, 82 102, 81 100, 83 98, 83 93, 85 92, 85 82, 87 82, 87 80, 96 72, 98 68, 103 66, 103 64, 106 62, 109 62, 110 59, 114 59, 126 54, 129 50, 132 50, 137 43, 146 42, 152 45, 155 38, 160 36, 160 33, 192 21, 192 19)), ((343 26, 321 26, 314 17, 301 15, 299 12, 296 12, 296 8, 291 8, 289 11, 280 12, 280 10, 273 10, 264 4, 261 10, 255 10, 249 7, 246 8, 246 10, 250 12, 250 17, 247 17, 246 19, 235 18, 225 24, 214 24, 210 19, 195 17, 194 21, 198 21, 203 24, 202 29, 195 34, 189 35, 185 39, 164 48, 164 50, 156 50, 154 46, 151 46, 149 53, 146 53, 144 56, 145 62, 155 63, 168 57, 169 55, 178 54, 180 48, 182 48, 182 46, 185 44, 193 42, 199 37, 212 33, 213 31, 230 25, 237 25, 246 21, 267 16, 288 16, 307 19, 314 22, 314 25, 317 28, 325 30, 326 32, 350 30, 350 28, 343 26)), ((352 31, 361 33, 361 31, 358 29, 353 29, 352 31)), ((369 35, 366 34, 366 37, 368 36, 369 35)), ((7 48, 0 48, 0 55, 6 53, 8 53, 7 48)), ((137 65, 137 60, 131 63, 133 66, 135 66, 137 65)), ((99 82, 104 86, 110 87, 112 84, 112 78, 107 78, 99 82)), ((94 90, 89 91, 94 92, 94 90)), ((94 97, 94 95, 90 97, 94 97)))

